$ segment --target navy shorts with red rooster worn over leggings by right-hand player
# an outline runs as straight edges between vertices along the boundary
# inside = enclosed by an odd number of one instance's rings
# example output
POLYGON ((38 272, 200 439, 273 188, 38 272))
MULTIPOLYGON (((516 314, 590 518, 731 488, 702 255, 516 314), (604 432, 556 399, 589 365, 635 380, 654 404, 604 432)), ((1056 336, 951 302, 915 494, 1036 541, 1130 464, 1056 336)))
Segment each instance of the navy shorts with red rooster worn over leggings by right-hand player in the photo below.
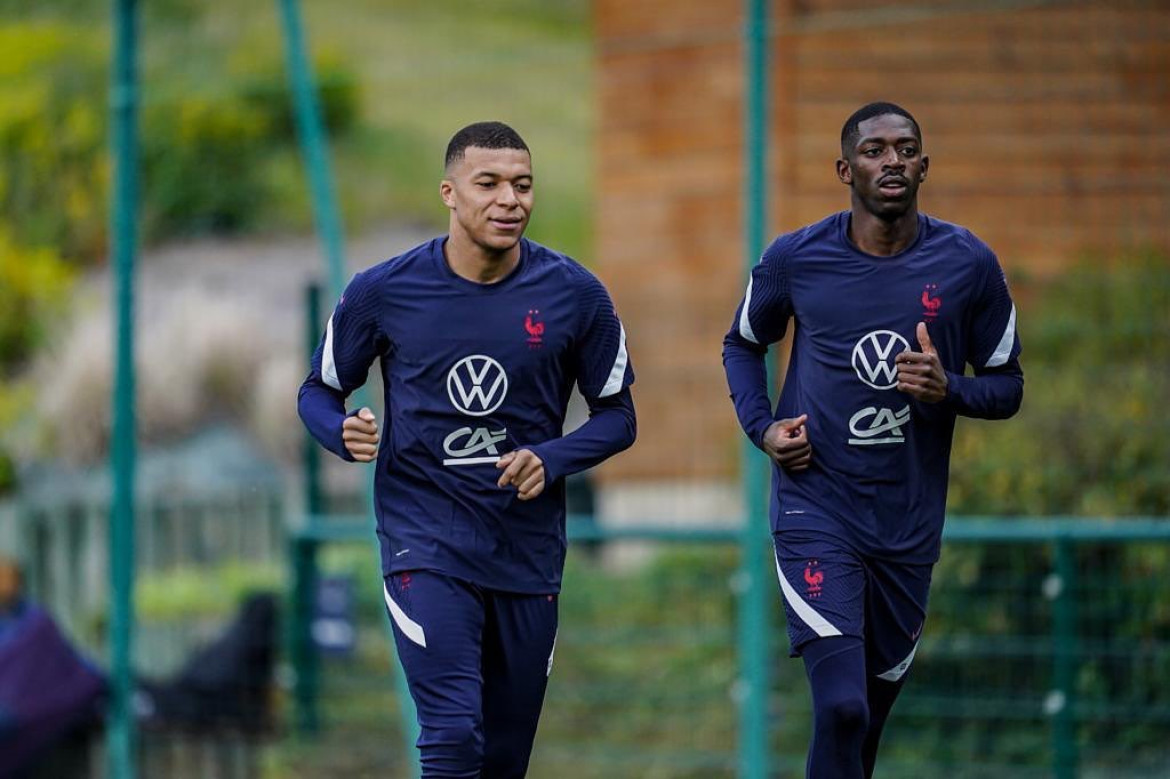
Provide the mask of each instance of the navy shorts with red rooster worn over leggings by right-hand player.
POLYGON ((772 540, 791 655, 815 639, 852 635, 865 642, 870 675, 901 680, 925 623, 934 566, 863 557, 818 533, 782 531, 772 540))

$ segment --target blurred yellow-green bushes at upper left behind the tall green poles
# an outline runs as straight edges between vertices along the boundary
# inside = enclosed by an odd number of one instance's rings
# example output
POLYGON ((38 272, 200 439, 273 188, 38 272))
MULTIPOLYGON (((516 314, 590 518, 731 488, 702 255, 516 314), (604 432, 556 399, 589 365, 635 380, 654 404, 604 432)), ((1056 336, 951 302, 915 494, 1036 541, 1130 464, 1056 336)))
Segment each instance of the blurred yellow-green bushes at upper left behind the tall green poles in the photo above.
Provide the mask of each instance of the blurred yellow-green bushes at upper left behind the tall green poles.
MULTIPOLYGON (((108 244, 109 42, 62 22, 0 27, 0 206, 16 243, 94 262, 108 244)), ((142 90, 143 216, 147 240, 291 223, 303 202, 277 189, 274 164, 297 156, 291 95, 278 57, 238 56, 187 84, 181 64, 142 90), (168 95, 178 95, 170 98, 168 95)), ((352 129, 357 78, 340 58, 314 63, 331 133, 352 129)), ((190 74, 188 74, 190 76, 190 74)), ((296 180, 303 187, 303 179, 296 180)))

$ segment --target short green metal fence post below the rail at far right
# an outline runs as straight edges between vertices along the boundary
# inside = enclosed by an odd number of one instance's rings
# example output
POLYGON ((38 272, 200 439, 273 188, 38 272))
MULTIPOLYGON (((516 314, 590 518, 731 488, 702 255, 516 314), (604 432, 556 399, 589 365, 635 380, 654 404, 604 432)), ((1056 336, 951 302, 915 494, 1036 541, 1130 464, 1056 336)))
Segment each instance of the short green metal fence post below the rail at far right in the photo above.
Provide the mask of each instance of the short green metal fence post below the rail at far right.
POLYGON ((1045 709, 1052 717, 1053 775, 1075 779, 1076 753, 1076 550, 1067 536, 1059 536, 1053 547, 1054 572, 1048 579, 1053 599, 1052 661, 1053 690, 1045 709))

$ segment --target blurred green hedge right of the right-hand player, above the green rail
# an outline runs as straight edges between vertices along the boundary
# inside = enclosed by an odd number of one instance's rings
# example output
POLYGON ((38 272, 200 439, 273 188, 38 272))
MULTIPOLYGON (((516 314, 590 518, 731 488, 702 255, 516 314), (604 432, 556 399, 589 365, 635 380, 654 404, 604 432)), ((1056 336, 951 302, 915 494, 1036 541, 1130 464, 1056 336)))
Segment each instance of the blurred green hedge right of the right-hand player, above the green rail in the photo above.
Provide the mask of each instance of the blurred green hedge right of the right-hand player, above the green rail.
POLYGON ((1170 260, 1085 263, 1016 290, 1024 406, 962 420, 952 513, 1170 513, 1170 260))

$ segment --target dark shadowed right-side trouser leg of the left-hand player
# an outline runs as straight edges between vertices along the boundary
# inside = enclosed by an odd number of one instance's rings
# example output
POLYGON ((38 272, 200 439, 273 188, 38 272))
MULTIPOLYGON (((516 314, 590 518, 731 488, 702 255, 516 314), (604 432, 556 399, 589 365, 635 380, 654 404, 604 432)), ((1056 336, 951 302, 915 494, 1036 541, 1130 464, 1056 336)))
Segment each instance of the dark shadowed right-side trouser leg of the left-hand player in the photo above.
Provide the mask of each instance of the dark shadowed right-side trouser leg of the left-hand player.
POLYGON ((483 779, 522 779, 557 639, 557 595, 488 595, 483 632, 483 779))

